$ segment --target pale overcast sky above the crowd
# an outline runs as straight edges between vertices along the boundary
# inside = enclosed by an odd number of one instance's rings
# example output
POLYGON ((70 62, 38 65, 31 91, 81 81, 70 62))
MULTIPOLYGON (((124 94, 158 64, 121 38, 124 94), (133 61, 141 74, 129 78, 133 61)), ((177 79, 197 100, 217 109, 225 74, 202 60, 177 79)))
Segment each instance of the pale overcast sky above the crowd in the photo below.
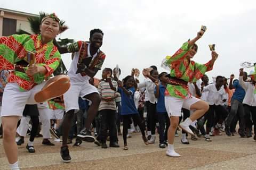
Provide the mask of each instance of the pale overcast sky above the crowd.
MULTIPOLYGON (((101 50, 107 55, 103 67, 118 64, 121 78, 132 68, 142 70, 150 65, 164 71, 160 67, 163 58, 194 38, 201 25, 206 25, 207 31, 197 42, 193 60, 209 61, 208 45, 216 44, 219 58, 213 71, 207 73, 210 77, 229 77, 231 73, 238 77, 241 62, 256 62, 256 1, 2 0, 0 7, 34 14, 55 12, 70 28, 60 38, 88 40, 91 29, 102 29, 101 50)), ((69 68, 70 55, 62 58, 69 68)), ((97 77, 101 77, 101 71, 97 77)))

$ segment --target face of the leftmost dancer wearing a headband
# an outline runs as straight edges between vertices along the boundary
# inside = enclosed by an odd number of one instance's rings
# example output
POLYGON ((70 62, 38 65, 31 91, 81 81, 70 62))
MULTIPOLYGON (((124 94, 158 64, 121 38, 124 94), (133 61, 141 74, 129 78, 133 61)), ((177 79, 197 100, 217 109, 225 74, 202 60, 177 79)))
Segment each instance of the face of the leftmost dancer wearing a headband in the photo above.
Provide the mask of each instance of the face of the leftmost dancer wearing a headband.
POLYGON ((53 40, 60 32, 59 22, 50 17, 46 18, 40 25, 40 31, 43 39, 47 41, 53 40))

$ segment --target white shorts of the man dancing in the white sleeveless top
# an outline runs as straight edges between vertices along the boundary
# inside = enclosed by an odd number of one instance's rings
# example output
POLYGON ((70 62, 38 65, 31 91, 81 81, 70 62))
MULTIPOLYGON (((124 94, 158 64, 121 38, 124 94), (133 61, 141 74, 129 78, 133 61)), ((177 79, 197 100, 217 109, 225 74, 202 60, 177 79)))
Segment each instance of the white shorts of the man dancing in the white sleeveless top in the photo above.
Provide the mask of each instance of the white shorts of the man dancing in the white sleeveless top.
MULTIPOLYGON (((66 112, 70 110, 79 110, 78 98, 84 97, 86 95, 98 92, 98 89, 95 86, 92 86, 89 81, 86 82, 72 82, 69 90, 63 95, 65 110, 66 112)), ((84 98, 83 98, 84 99, 84 98)))

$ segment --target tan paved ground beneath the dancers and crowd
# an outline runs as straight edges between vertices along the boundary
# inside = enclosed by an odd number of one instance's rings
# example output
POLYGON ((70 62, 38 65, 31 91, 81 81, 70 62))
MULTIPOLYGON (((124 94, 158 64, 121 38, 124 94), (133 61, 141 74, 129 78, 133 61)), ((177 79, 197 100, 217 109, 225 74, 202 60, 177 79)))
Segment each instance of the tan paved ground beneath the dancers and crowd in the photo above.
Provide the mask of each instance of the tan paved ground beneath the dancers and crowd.
MULTIPOLYGON (((28 138, 26 138, 26 141, 28 138)), ((63 164, 60 159, 60 144, 49 147, 41 144, 42 138, 36 139, 35 154, 29 154, 26 145, 19 147, 19 163, 22 169, 256 169, 256 142, 252 138, 244 139, 212 137, 212 142, 203 138, 182 145, 180 137, 175 139, 175 148, 181 158, 165 156, 165 149, 154 145, 145 146, 139 133, 133 133, 128 139, 129 150, 122 148, 101 149, 93 143, 83 143, 79 148, 70 145, 73 162, 63 164)), ((0 139, 0 169, 8 169, 0 139)))

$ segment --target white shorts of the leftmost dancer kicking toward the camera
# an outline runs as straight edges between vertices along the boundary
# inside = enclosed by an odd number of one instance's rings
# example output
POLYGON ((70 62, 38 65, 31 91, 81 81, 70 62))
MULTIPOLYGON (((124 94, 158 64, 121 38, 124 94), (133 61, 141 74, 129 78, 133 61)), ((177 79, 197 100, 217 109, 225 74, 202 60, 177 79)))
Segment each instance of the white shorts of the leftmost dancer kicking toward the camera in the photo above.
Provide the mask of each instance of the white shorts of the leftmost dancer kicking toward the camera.
POLYGON ((7 83, 2 99, 1 117, 22 116, 26 104, 37 104, 34 96, 44 87, 46 82, 44 81, 28 91, 20 91, 17 83, 7 83))

